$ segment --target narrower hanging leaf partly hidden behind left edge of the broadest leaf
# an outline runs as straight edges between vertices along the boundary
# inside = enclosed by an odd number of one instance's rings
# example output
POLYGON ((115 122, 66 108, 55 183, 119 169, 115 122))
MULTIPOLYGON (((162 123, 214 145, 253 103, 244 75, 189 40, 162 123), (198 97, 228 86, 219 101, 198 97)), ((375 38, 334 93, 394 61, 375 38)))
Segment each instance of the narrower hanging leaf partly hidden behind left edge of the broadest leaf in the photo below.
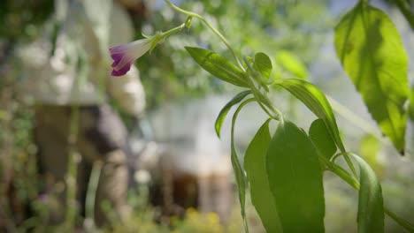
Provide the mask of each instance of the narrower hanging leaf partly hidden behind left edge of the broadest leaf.
POLYGON ((266 231, 282 232, 266 172, 266 154, 271 140, 269 122, 267 120, 251 140, 244 156, 244 169, 250 184, 251 202, 266 231))

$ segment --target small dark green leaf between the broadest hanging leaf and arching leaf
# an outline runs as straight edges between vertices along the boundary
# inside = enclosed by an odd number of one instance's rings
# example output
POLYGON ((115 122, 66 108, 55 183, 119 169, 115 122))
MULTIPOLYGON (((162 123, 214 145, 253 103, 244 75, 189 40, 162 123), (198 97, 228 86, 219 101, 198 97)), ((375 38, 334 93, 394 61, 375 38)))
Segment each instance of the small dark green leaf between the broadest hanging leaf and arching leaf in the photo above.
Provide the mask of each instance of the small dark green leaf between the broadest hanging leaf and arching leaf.
POLYGON ((316 119, 309 128, 309 138, 317 148, 319 154, 330 160, 336 152, 334 139, 329 134, 322 119, 316 119))

